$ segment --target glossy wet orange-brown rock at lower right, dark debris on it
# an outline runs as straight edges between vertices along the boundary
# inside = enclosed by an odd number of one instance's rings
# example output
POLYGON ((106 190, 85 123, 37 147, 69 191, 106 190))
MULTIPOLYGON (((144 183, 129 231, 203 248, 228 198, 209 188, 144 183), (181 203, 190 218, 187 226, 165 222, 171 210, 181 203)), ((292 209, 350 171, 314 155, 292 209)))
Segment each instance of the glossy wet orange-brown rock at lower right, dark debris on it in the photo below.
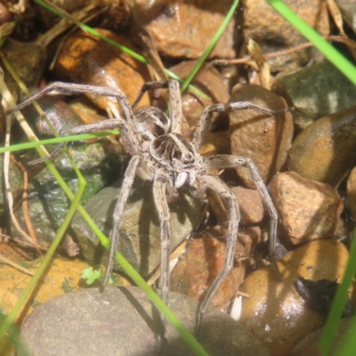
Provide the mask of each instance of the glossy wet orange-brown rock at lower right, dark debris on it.
POLYGON ((240 324, 251 330, 273 356, 289 355, 295 344, 326 320, 319 312, 305 308, 293 281, 303 277, 340 282, 347 260, 343 244, 319 240, 297 248, 278 262, 281 283, 271 265, 253 272, 242 287, 251 298, 243 300, 240 324))

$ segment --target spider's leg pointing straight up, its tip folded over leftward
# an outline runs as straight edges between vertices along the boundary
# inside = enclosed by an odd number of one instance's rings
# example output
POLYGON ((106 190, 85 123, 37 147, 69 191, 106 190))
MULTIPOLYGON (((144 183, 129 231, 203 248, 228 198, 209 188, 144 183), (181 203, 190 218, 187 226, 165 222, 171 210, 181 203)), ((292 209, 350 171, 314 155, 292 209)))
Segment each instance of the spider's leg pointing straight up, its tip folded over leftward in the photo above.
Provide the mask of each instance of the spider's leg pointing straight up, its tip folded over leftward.
POLYGON ((179 90, 179 83, 174 79, 160 80, 158 82, 148 82, 142 86, 133 104, 133 110, 136 108, 142 96, 148 90, 166 89, 169 91, 169 118, 171 122, 170 133, 181 134, 182 132, 182 98, 179 90))

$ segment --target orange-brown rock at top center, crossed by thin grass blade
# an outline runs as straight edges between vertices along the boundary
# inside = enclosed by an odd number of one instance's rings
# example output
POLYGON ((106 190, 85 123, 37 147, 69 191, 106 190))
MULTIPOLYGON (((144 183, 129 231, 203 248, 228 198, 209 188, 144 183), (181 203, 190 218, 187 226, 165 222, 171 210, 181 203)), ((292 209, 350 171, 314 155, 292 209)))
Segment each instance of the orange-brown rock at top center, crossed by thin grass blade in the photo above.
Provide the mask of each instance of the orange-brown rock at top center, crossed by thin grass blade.
MULTIPOLYGON (((198 59, 206 50, 231 8, 230 0, 137 3, 154 46, 170 57, 198 59)), ((235 58, 235 20, 231 20, 209 58, 235 58)))

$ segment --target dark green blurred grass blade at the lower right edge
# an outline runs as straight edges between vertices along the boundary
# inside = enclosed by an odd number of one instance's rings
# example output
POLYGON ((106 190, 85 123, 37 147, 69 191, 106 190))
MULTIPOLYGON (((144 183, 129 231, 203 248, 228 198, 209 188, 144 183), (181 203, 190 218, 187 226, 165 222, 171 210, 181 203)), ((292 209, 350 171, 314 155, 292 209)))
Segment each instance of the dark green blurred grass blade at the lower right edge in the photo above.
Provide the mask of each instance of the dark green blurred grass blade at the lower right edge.
MULTIPOLYGON (((352 246, 350 249, 349 261, 344 271, 344 278, 337 288, 334 302, 328 314, 328 320, 325 324, 322 336, 320 338, 320 349, 323 355, 328 355, 330 352, 333 339, 336 335, 336 330, 340 319, 343 315, 344 305, 347 300, 347 290, 352 284, 353 276, 356 273, 356 230, 353 232, 352 246)), ((341 355, 341 354, 340 354, 341 355)))

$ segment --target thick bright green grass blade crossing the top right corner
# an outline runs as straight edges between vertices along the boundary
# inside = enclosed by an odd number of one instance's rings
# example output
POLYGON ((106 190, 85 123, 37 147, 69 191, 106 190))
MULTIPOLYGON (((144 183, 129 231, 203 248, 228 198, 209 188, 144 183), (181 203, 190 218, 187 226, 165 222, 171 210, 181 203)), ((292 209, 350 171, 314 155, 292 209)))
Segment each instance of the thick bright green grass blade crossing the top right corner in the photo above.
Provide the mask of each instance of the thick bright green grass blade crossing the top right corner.
POLYGON ((331 44, 325 41, 315 29, 307 25, 295 12, 281 0, 267 0, 291 25, 293 25, 308 41, 317 47, 353 84, 356 85, 356 68, 339 53, 331 44))

